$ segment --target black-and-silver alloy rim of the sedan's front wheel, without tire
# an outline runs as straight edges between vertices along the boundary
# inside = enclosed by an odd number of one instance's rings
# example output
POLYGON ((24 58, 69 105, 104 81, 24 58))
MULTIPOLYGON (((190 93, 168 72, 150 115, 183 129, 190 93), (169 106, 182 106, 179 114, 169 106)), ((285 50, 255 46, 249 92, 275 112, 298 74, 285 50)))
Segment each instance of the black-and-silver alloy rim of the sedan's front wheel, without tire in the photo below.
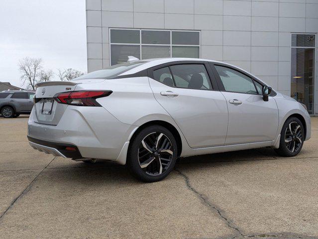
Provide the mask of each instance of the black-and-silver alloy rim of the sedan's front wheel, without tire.
POLYGON ((289 123, 285 131, 285 143, 287 149, 294 153, 300 149, 303 143, 303 130, 298 122, 289 123))

